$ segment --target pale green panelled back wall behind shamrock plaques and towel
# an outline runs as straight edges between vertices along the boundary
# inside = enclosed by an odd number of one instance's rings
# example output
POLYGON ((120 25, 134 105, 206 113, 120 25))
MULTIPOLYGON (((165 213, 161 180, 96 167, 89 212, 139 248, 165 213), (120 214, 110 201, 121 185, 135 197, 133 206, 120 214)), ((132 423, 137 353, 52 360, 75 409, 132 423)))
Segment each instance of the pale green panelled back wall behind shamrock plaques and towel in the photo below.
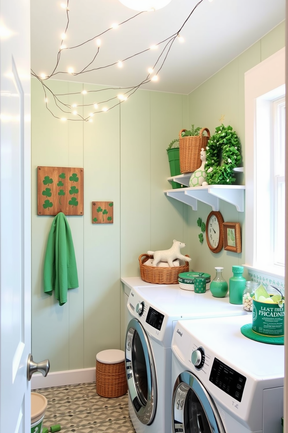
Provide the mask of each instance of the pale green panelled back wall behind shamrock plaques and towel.
MULTIPOLYGON (((55 93, 83 84, 53 81, 55 93)), ((99 86, 85 84, 85 90, 99 86)), ((111 96, 103 94, 103 100, 111 96)), ((47 95, 49 99, 49 95, 47 95)), ((93 103, 95 94, 85 95, 93 103)), ((188 97, 139 90, 93 123, 61 122, 32 79, 32 351, 51 371, 95 365, 100 350, 120 348, 121 276, 139 275, 138 257, 184 236, 184 204, 167 200, 166 148, 186 123, 188 97), (53 216, 37 216, 37 166, 84 168, 84 216, 70 216, 79 288, 60 307, 43 293, 43 259, 53 216), (114 202, 114 223, 93 224, 92 201, 114 202)), ((72 104, 72 99, 67 99, 72 104)), ((62 114, 63 115, 63 114, 62 114)))

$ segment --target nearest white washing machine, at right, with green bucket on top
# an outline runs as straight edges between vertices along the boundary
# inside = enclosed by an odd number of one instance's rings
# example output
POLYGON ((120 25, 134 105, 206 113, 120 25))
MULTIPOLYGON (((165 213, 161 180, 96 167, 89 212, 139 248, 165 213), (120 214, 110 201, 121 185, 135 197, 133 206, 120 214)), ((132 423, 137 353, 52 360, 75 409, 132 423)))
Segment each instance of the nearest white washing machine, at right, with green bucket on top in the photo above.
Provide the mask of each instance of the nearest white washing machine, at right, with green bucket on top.
POLYGON ((252 317, 180 320, 172 339, 172 432, 281 433, 284 346, 241 334, 252 317))

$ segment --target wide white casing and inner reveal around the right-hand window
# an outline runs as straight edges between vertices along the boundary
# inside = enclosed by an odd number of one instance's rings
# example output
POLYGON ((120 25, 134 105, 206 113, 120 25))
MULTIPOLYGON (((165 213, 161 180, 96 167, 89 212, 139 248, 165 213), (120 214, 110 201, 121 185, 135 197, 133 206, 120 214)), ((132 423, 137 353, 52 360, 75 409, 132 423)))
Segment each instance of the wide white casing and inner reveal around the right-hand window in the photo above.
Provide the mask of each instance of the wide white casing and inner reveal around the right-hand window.
POLYGON ((274 228, 277 224, 276 228, 280 229, 278 224, 281 219, 274 213, 276 190, 273 101, 284 95, 285 48, 245 74, 245 265, 281 277, 284 276, 284 265, 275 263, 274 228))

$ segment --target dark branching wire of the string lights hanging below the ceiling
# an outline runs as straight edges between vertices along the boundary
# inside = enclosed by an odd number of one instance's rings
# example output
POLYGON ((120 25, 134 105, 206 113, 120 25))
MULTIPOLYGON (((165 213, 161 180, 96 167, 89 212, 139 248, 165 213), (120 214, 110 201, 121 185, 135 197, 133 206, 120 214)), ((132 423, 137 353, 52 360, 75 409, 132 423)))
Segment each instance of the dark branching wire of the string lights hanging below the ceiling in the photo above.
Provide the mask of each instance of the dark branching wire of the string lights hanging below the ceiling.
MULTIPOLYGON (((188 19, 190 18, 190 16, 193 14, 193 12, 196 10, 196 8, 197 8, 197 7, 200 5, 200 3, 202 3, 202 2, 203 2, 203 0, 199 0, 199 2, 198 2, 198 3, 193 7, 193 10, 192 10, 192 11, 190 12, 190 14, 187 16, 187 18, 185 19, 184 23, 182 24, 182 26, 180 27, 180 29, 179 29, 176 33, 174 33, 173 35, 171 35, 171 36, 169 36, 168 38, 164 39, 163 41, 158 42, 157 44, 155 44, 155 46, 158 46, 158 45, 161 45, 161 44, 163 44, 164 42, 166 42, 164 48, 162 49, 160 55, 158 56, 158 58, 157 58, 157 60, 156 60, 156 62, 155 62, 155 64, 154 64, 154 66, 153 66, 153 68, 152 68, 154 76, 157 77, 159 71, 161 70, 161 68, 163 67, 163 65, 164 65, 164 63, 165 63, 165 60, 166 60, 166 58, 167 58, 167 56, 168 56, 168 54, 169 54, 169 51, 170 51, 170 49, 171 49, 171 47, 172 47, 172 45, 173 45, 173 42, 175 41, 175 39, 177 38, 177 36, 179 36, 180 31, 183 29, 183 27, 184 27, 185 24, 187 23, 188 19), (167 52, 166 52, 166 51, 167 51, 167 52), (158 69, 157 69, 156 72, 154 72, 154 71, 155 71, 155 68, 157 67, 157 65, 158 65, 158 69)), ((64 35, 66 35, 67 29, 68 29, 68 26, 69 26, 69 11, 70 11, 70 9, 69 9, 69 0, 67 0, 67 3, 66 3, 67 23, 66 23, 65 32, 63 33, 64 35)), ((139 16, 139 15, 141 15, 142 13, 145 13, 145 12, 146 12, 146 11, 139 12, 139 13, 137 13, 136 15, 131 16, 130 18, 124 20, 122 23, 118 24, 118 26, 127 23, 127 22, 130 21, 131 19, 134 19, 134 18, 136 18, 137 16, 139 16)), ((81 71, 76 72, 76 73, 74 73, 74 72, 70 73, 70 72, 66 72, 66 71, 57 71, 57 72, 56 72, 57 67, 58 67, 58 65, 59 65, 61 52, 62 52, 63 50, 73 49, 73 48, 78 48, 78 47, 80 47, 80 46, 82 46, 82 45, 85 45, 86 43, 91 42, 92 40, 94 40, 94 39, 96 39, 96 38, 99 38, 99 36, 103 35, 104 33, 108 32, 108 31, 110 31, 110 30, 112 30, 112 29, 113 29, 113 28, 110 27, 109 29, 104 30, 104 32, 99 33, 98 35, 94 36, 93 38, 88 39, 87 41, 82 42, 81 44, 79 44, 79 45, 75 45, 75 46, 73 46, 73 47, 65 47, 65 48, 61 48, 62 45, 63 45, 63 40, 64 40, 64 38, 62 37, 61 45, 60 45, 60 49, 59 49, 59 51, 58 51, 58 53, 57 53, 57 61, 56 61, 56 65, 55 65, 55 67, 54 67, 52 73, 51 73, 50 75, 48 75, 48 76, 45 76, 45 78, 42 78, 42 77, 38 76, 38 75, 37 75, 37 74, 36 74, 36 73, 31 69, 31 75, 32 75, 33 77, 37 78, 38 81, 41 82, 41 85, 42 85, 42 88, 43 88, 43 91, 44 91, 44 95, 45 95, 45 105, 46 105, 46 108, 47 108, 47 110, 52 114, 52 116, 54 116, 56 119, 63 119, 63 118, 61 118, 61 117, 59 117, 59 116, 56 116, 56 115, 53 113, 53 111, 48 107, 48 105, 47 105, 47 100, 48 100, 48 99, 47 99, 47 93, 49 92, 49 93, 52 95, 52 98, 53 98, 53 100, 54 100, 54 103, 55 103, 55 105, 59 108, 59 110, 61 110, 63 113, 73 114, 73 113, 71 112, 71 108, 72 108, 72 106, 71 106, 70 104, 67 104, 67 103, 62 102, 62 101, 60 100, 59 97, 62 97, 62 96, 71 96, 71 95, 77 95, 77 94, 80 95, 80 94, 83 94, 83 91, 81 91, 81 92, 74 92, 74 93, 54 94, 53 91, 51 90, 51 88, 48 87, 47 84, 44 83, 44 81, 47 81, 49 78, 51 78, 51 77, 53 77, 54 75, 57 75, 57 74, 72 74, 72 75, 79 75, 79 74, 84 74, 85 72, 92 72, 92 71, 97 71, 97 70, 99 70, 99 69, 109 68, 109 67, 111 67, 111 66, 117 65, 117 63, 118 63, 118 61, 115 61, 115 62, 113 62, 113 63, 111 63, 111 64, 109 64, 109 65, 100 66, 100 67, 98 67, 98 68, 87 69, 87 68, 89 68, 89 66, 92 65, 92 63, 95 61, 95 58, 97 57, 97 55, 98 55, 98 53, 99 53, 100 46, 98 46, 98 48, 97 48, 97 52, 96 52, 94 58, 92 59, 92 61, 90 61, 89 64, 86 65, 86 66, 85 66, 81 71), (67 109, 68 109, 69 111, 67 111, 67 109)), ((133 54, 133 55, 127 57, 127 58, 124 58, 121 62, 123 63, 124 61, 127 61, 127 60, 129 60, 129 59, 131 59, 131 58, 133 58, 133 57, 136 57, 136 56, 138 56, 138 55, 143 54, 144 52, 150 51, 150 49, 151 49, 151 48, 146 48, 145 50, 142 50, 142 51, 140 51, 140 52, 138 52, 138 53, 136 53, 136 54, 133 54)), ((98 89, 98 90, 87 90, 87 92, 85 92, 85 93, 97 93, 97 92, 101 92, 101 91, 103 91, 103 90, 117 90, 117 91, 119 91, 119 90, 127 90, 127 91, 123 94, 123 95, 124 95, 124 98, 125 98, 124 100, 119 100, 119 102, 115 103, 114 105, 112 105, 111 107, 109 107, 109 109, 107 109, 107 111, 108 111, 108 110, 112 110, 112 108, 117 107, 117 106, 120 105, 121 103, 125 102, 125 100, 127 100, 130 96, 132 96, 132 95, 136 92, 136 90, 139 89, 139 87, 141 87, 141 86, 144 85, 144 84, 149 83, 149 82, 152 80, 152 78, 150 77, 150 75, 151 75, 151 74, 149 73, 149 74, 146 76, 146 78, 145 78, 144 80, 142 80, 142 81, 141 81, 139 84, 137 84, 136 86, 131 86, 131 87, 106 87, 106 88, 102 88, 102 89, 98 89)), ((97 107, 98 105, 101 105, 101 104, 103 104, 103 103, 108 103, 108 102, 110 102, 111 100, 114 100, 114 99, 119 99, 119 96, 114 96, 114 97, 111 97, 111 98, 109 98, 109 99, 107 99, 107 100, 98 101, 97 104, 96 104, 96 103, 90 103, 90 104, 77 104, 77 107, 89 107, 89 106, 97 107)), ((66 119, 66 118, 65 118, 65 120, 71 120, 71 121, 85 121, 85 122, 88 122, 88 121, 91 121, 91 115, 93 116, 93 115, 96 114, 96 113, 102 113, 102 112, 103 112, 103 110, 94 111, 93 113, 90 113, 89 116, 87 116, 87 117, 83 117, 81 114, 77 113, 77 118, 75 118, 75 119, 73 119, 73 118, 72 118, 72 119, 71 119, 71 118, 67 118, 67 119, 66 119)))

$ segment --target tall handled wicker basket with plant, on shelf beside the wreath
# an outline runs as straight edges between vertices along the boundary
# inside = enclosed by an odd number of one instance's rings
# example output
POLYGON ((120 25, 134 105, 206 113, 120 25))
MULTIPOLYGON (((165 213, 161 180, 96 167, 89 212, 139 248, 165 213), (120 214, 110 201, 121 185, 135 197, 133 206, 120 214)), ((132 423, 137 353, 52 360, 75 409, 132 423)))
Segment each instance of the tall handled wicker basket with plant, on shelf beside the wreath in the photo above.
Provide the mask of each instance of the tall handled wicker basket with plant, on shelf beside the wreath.
POLYGON ((179 159, 181 173, 190 173, 201 167, 200 152, 203 148, 206 150, 210 132, 208 128, 202 128, 199 136, 182 137, 181 133, 186 129, 181 129, 179 132, 179 159), (207 136, 203 136, 203 132, 207 132, 207 136))

